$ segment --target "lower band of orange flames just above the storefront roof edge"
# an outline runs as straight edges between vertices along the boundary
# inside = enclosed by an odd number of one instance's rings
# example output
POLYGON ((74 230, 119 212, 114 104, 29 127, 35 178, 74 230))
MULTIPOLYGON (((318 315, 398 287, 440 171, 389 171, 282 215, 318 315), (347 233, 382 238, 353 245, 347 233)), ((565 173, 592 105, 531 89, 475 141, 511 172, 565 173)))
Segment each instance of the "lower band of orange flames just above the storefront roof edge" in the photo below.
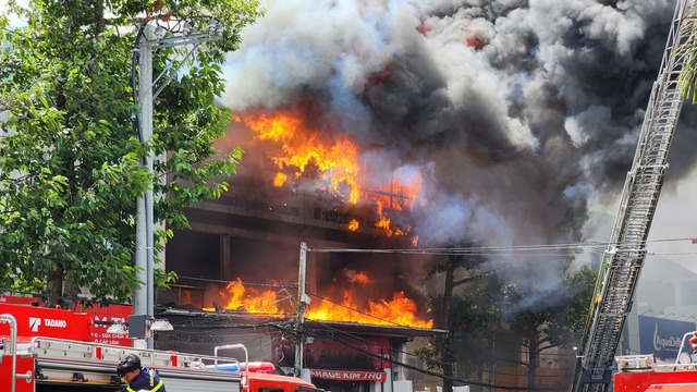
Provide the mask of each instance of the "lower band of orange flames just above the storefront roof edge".
MULTIPOLYGON (((372 279, 365 272, 355 272, 347 277, 354 286, 365 286, 372 283, 372 279)), ((319 302, 313 303, 306 310, 305 317, 310 320, 357 322, 377 326, 404 326, 415 328, 432 328, 432 320, 423 320, 417 317, 416 303, 406 297, 404 292, 394 293, 392 298, 372 299, 360 305, 355 298, 355 290, 344 290, 343 298, 333 302, 319 297, 319 302)), ((279 306, 288 298, 280 298, 273 290, 259 291, 254 287, 245 287, 240 278, 229 283, 220 292, 224 298, 227 310, 245 311, 249 314, 284 317, 295 309, 284 309, 279 306)), ((285 303, 290 303, 285 301, 285 303)), ((290 305, 289 305, 290 306, 290 305)), ((286 306, 288 307, 288 306, 286 306)), ((213 311, 216 308, 206 307, 204 310, 213 311)))

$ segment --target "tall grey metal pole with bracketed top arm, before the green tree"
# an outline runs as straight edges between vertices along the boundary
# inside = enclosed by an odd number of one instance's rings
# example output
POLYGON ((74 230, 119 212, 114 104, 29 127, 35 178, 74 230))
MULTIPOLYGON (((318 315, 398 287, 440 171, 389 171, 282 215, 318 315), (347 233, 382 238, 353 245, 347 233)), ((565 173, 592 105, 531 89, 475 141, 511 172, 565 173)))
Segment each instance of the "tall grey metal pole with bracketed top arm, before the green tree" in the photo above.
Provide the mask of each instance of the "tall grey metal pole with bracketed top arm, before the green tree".
MULTIPOLYGON (((147 144, 152 136, 152 100, 169 84, 171 78, 180 68, 186 63, 188 58, 196 51, 203 42, 213 41, 222 38, 222 23, 212 16, 178 17, 171 14, 148 15, 138 29, 134 47, 134 66, 132 82, 134 85, 133 98, 135 105, 140 106, 140 114, 137 119, 138 137, 142 143, 147 144), (195 23, 198 22, 198 23, 195 23), (206 22, 205 24, 203 22, 206 22), (207 29, 198 32, 196 25, 206 25, 207 29), (179 62, 176 68, 171 63, 166 64, 164 70, 152 81, 152 51, 163 48, 183 47, 187 48, 186 54, 179 62), (138 88, 135 88, 135 62, 139 60, 138 88), (169 76, 160 82, 160 78, 169 76), (156 85, 160 82, 159 86, 156 85)), ((144 159, 143 166, 152 173, 152 151, 144 159)), ((138 197, 136 205, 136 241, 135 241, 135 266, 139 267, 136 272, 138 281, 145 283, 145 287, 136 287, 133 299, 133 314, 152 316, 155 313, 155 255, 154 255, 154 215, 152 215, 152 187, 148 187, 143 197, 138 197)), ((152 348, 152 341, 134 341, 134 346, 152 348)))

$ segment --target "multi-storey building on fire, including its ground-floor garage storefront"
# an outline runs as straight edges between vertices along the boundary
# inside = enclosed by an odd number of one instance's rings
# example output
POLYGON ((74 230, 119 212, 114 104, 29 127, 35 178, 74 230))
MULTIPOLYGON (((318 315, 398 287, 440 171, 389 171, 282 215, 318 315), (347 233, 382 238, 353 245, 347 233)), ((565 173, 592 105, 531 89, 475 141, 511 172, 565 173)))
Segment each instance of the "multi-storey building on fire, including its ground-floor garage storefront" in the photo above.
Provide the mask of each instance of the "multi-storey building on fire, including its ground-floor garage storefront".
POLYGON ((178 332, 161 347, 210 352, 246 333, 266 342, 246 342, 260 347, 253 358, 294 371, 301 273, 303 358, 320 387, 391 382, 406 341, 444 332, 433 329, 425 282, 414 278, 427 274, 430 256, 381 252, 418 245, 411 207, 420 173, 374 176, 358 145, 316 118, 310 102, 235 113, 228 142, 245 158, 230 192, 192 208, 193 230, 167 248, 167 268, 180 279, 158 302, 175 305, 160 316, 178 332), (310 249, 305 270, 302 242, 310 249))

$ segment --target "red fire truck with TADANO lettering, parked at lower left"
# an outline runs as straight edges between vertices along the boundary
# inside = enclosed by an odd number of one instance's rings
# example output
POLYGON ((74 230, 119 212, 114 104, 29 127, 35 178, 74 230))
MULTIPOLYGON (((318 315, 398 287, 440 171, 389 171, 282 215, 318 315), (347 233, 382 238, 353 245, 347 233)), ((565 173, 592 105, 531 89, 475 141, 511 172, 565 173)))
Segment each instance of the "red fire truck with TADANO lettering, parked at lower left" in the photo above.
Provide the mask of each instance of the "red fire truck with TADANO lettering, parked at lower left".
POLYGON ((244 345, 217 347, 211 356, 111 345, 94 341, 94 315, 0 304, 0 385, 8 392, 119 391, 117 364, 136 354, 156 369, 168 392, 321 391, 295 377, 271 373, 270 363, 249 363, 244 345), (218 355, 244 352, 244 362, 218 355), (248 366, 247 366, 248 364, 248 366))

